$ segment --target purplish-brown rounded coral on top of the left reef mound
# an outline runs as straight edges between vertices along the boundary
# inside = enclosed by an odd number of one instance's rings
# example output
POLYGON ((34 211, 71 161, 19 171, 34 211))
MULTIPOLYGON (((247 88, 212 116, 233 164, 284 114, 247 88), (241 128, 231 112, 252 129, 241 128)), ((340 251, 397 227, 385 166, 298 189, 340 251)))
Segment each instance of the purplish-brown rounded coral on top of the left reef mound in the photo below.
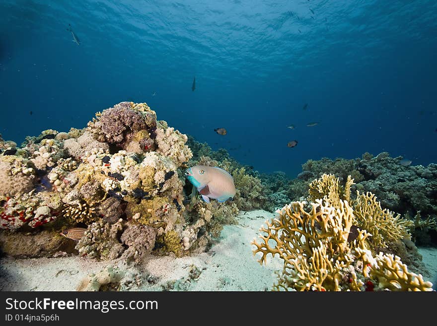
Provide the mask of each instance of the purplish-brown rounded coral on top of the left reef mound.
POLYGON ((99 127, 105 141, 121 143, 126 133, 144 130, 146 129, 146 123, 139 112, 131 109, 129 102, 122 102, 103 111, 99 119, 99 127))

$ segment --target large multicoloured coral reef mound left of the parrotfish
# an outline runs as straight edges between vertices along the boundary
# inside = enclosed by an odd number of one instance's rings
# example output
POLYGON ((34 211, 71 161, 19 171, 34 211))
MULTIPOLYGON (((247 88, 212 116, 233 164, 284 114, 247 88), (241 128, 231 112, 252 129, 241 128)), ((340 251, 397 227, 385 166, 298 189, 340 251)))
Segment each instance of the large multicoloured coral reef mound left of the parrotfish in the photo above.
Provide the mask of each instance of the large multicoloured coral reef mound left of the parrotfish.
POLYGON ((192 158, 187 140, 132 102, 98 112, 82 130, 44 130, 20 147, 1 138, 1 228, 88 227, 77 250, 101 260, 206 250, 205 224, 185 216, 178 169, 192 158))

